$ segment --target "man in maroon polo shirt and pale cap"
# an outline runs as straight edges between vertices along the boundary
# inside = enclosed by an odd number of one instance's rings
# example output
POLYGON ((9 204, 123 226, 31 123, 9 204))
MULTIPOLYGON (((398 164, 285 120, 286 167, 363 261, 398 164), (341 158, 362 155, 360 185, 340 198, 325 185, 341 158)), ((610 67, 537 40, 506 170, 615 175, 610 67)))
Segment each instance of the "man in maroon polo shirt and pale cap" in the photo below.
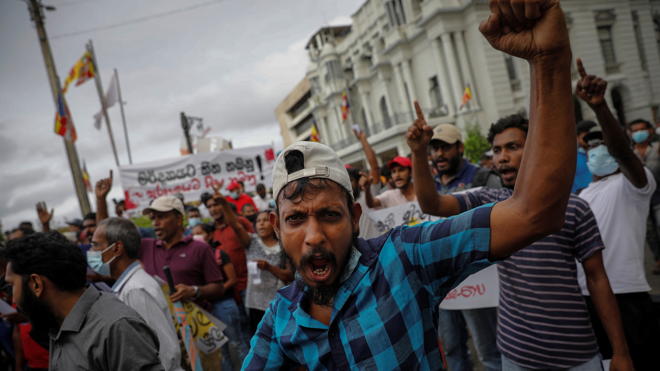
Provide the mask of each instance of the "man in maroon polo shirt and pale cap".
POLYGON ((183 237, 183 203, 174 196, 156 198, 143 214, 149 215, 154 224, 156 239, 142 239, 138 258, 145 271, 166 280, 164 266, 170 266, 176 293, 172 301, 194 300, 207 310, 207 300, 222 297, 222 273, 215 264, 215 256, 209 244, 183 237))

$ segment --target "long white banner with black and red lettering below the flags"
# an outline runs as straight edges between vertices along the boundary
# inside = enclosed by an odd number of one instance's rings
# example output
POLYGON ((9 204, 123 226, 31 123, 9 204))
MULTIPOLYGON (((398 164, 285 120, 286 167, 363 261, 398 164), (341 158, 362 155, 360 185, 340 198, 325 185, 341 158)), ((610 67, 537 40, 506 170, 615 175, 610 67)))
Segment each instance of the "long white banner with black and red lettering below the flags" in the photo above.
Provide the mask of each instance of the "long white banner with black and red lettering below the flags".
POLYGON ((273 185, 273 146, 205 152, 119 167, 126 209, 141 211, 160 196, 182 193, 185 201, 199 200, 211 185, 242 181, 246 192, 263 183, 273 185))

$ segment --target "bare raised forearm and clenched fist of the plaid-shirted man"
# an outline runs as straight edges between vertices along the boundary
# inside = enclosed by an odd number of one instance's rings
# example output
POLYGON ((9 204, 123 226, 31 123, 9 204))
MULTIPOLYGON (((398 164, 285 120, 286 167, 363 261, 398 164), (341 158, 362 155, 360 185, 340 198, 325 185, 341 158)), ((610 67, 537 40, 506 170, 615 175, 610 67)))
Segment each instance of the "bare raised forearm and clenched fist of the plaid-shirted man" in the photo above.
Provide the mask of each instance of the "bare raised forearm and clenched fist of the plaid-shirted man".
POLYGON ((513 195, 490 214, 488 258, 499 260, 564 227, 577 150, 566 18, 558 0, 490 0, 479 30, 504 53, 526 59, 529 132, 513 195))

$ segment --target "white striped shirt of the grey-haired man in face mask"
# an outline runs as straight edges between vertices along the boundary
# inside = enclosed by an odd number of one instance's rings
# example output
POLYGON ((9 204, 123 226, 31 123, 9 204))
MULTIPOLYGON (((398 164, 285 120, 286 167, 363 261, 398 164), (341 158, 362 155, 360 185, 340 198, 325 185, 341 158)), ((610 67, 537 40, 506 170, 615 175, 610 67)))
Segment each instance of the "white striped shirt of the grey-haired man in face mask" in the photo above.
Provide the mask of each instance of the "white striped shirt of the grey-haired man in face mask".
POLYGON ((112 285, 112 292, 137 312, 156 331, 160 347, 158 358, 165 371, 183 371, 181 347, 174 319, 158 282, 142 269, 137 260, 128 266, 112 285))

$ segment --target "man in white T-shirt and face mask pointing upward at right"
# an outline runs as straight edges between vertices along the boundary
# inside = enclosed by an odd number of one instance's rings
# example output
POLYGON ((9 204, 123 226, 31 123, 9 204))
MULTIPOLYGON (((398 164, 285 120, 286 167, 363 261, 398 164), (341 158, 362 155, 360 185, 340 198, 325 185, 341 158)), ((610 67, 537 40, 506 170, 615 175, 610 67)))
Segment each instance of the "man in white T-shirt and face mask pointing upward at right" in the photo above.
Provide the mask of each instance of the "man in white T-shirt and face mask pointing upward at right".
MULTIPOLYGON (((626 132, 607 106, 607 81, 587 74, 579 59, 578 72, 581 79, 576 94, 593 109, 600 123, 583 138, 589 144, 587 167, 593 174, 593 182, 579 196, 589 202, 607 246, 603 250, 603 264, 621 312, 630 357, 636 370, 653 370, 657 368, 655 354, 660 349, 660 326, 644 274, 644 241, 655 179, 634 154, 626 132)), ((600 351, 607 359, 612 355, 612 347, 580 268, 578 265, 579 285, 600 351)))

